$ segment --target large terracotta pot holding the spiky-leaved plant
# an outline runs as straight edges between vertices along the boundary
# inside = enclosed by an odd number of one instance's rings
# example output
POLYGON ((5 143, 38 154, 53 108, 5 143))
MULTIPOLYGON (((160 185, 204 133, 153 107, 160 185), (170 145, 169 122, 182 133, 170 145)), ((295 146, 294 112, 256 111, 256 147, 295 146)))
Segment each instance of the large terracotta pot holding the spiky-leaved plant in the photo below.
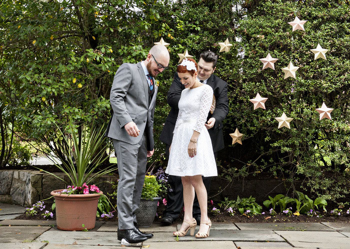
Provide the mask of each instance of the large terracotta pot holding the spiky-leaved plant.
POLYGON ((51 191, 56 203, 56 223, 60 230, 82 230, 95 227, 98 194, 62 194, 62 189, 51 191), (82 227, 84 224, 84 227, 82 227))

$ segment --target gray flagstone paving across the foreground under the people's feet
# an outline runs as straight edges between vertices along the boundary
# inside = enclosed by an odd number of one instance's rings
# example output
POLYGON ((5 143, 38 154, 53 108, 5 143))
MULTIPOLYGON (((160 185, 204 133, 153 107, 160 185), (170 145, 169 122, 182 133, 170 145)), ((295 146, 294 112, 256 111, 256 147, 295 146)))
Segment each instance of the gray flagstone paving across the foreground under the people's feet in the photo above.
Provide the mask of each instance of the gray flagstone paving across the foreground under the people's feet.
MULTIPOLYGON (((0 204, 0 214, 22 213, 25 208, 0 204), (1 212, 2 211, 2 212, 1 212)), ((95 228, 84 231, 62 231, 53 220, 0 221, 0 249, 120 249, 117 240, 117 223, 97 221, 95 228)), ((180 224, 162 226, 153 223, 144 232, 154 237, 131 248, 153 249, 349 249, 350 222, 321 223, 219 223, 215 222, 210 236, 196 239, 194 236, 174 237, 172 232, 180 224)), ((196 227, 196 231, 199 227, 196 227)))

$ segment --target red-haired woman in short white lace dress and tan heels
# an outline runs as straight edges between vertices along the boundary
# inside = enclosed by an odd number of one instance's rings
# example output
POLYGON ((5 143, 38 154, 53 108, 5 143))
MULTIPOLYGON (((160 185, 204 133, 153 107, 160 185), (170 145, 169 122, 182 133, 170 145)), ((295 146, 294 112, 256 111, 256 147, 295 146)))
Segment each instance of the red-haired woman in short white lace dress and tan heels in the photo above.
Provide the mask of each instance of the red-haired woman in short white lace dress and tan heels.
POLYGON ((211 140, 204 124, 212 103, 213 91, 197 80, 197 64, 184 59, 177 66, 178 77, 185 89, 178 102, 178 116, 170 146, 166 173, 181 176, 184 217, 174 236, 194 234, 196 221, 192 217, 194 191, 200 207, 200 226, 196 238, 209 236, 211 221, 207 215, 207 193, 202 176, 216 176, 216 163, 211 140))

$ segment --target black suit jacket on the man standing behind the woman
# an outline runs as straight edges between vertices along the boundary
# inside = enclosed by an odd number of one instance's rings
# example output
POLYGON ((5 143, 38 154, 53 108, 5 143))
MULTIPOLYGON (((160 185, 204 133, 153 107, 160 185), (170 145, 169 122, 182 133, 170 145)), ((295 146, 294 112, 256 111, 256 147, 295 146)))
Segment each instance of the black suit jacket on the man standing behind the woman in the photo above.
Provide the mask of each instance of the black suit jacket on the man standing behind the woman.
MULTIPOLYGON (((207 120, 211 117, 215 118, 215 124, 208 132, 211 138, 212 150, 213 152, 217 152, 224 148, 222 120, 228 113, 227 83, 212 74, 208 78, 206 84, 212 88, 216 98, 215 110, 213 114, 209 112, 207 120)), ((167 103, 171 109, 159 136, 159 140, 167 145, 170 145, 172 141, 172 132, 175 128, 178 114, 178 101, 180 100, 181 91, 183 89, 184 86, 181 84, 177 73, 175 73, 174 80, 167 92, 167 103)))

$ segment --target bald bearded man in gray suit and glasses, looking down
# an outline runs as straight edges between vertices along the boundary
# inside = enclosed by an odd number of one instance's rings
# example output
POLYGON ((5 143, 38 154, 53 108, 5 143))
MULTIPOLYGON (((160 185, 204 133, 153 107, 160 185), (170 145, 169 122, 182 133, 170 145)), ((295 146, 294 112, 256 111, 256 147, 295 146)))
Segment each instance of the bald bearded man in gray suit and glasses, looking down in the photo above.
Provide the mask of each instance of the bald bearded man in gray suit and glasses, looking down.
POLYGON ((119 182, 117 189, 118 240, 124 245, 153 236, 137 228, 135 213, 141 198, 147 157, 153 155, 153 115, 157 86, 154 77, 169 64, 169 53, 155 45, 144 61, 122 64, 110 90, 113 115, 106 136, 113 141, 119 182))

